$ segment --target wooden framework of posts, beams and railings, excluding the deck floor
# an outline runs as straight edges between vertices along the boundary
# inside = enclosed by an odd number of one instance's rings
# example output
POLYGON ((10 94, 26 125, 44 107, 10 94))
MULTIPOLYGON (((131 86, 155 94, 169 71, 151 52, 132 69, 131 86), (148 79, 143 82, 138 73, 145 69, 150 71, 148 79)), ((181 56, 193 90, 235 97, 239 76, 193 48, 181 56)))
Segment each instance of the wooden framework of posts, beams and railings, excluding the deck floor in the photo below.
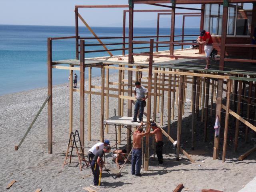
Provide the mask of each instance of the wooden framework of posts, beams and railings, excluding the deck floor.
MULTIPOLYGON (((228 134, 228 120, 229 120, 229 114, 234 116, 234 118, 237 119, 237 126, 236 126, 236 136, 235 136, 235 150, 237 150, 237 144, 238 144, 238 134, 239 134, 239 122, 242 122, 246 125, 246 133, 248 135, 248 128, 256 131, 256 116, 250 118, 250 108, 247 108, 247 114, 246 118, 243 118, 240 116, 240 110, 241 110, 241 102, 242 100, 247 102, 248 105, 256 105, 255 101, 255 95, 254 98, 252 97, 252 89, 254 88, 254 94, 255 94, 255 88, 256 88, 256 72, 242 72, 242 71, 228 71, 224 70, 224 64, 225 62, 253 62, 256 63, 256 60, 252 59, 241 59, 241 58, 225 58, 225 48, 228 46, 240 46, 240 47, 251 47, 255 48, 256 45, 248 45, 248 44, 226 44, 226 30, 227 30, 227 19, 228 19, 228 3, 234 3, 234 2, 245 2, 243 0, 211 0, 211 3, 223 3, 223 20, 222 20, 222 39, 220 44, 215 44, 215 46, 220 46, 221 53, 220 58, 217 58, 216 60, 219 60, 219 69, 218 70, 202 70, 200 68, 196 67, 190 67, 190 66, 174 66, 169 64, 156 64, 153 63, 153 57, 158 58, 176 58, 176 59, 200 59, 205 60, 205 57, 196 57, 196 56, 182 56, 182 55, 175 55, 174 54, 174 46, 183 46, 183 45, 196 45, 196 43, 190 43, 190 42, 184 42, 184 33, 182 34, 182 42, 175 41, 174 40, 174 24, 175 24, 175 15, 177 14, 175 11, 177 8, 180 8, 176 6, 176 4, 202 4, 201 9, 193 9, 193 10, 200 10, 201 11, 201 26, 202 29, 202 20, 203 18, 203 12, 204 12, 204 4, 208 3, 208 0, 171 0, 171 6, 163 5, 161 3, 170 3, 170 1, 167 0, 129 0, 129 5, 108 5, 108 6, 76 6, 75 12, 76 12, 76 36, 72 37, 64 37, 64 38, 48 38, 48 95, 50 95, 50 99, 48 100, 48 152, 52 153, 52 68, 58 68, 58 69, 64 69, 64 70, 70 70, 70 75, 72 77, 73 70, 80 71, 80 90, 79 89, 73 89, 72 88, 72 81, 70 81, 70 132, 72 131, 72 98, 73 98, 73 92, 80 92, 80 138, 82 142, 82 146, 84 147, 84 98, 85 94, 88 95, 88 122, 89 122, 89 128, 88 128, 88 140, 90 140, 90 118, 91 118, 91 95, 99 95, 101 96, 101 114, 104 117, 104 108, 107 108, 107 114, 106 118, 108 118, 108 98, 117 98, 118 99, 118 116, 124 116, 124 99, 128 100, 127 105, 127 115, 131 117, 132 116, 132 103, 134 103, 134 97, 132 97, 132 85, 135 80, 143 80, 146 79, 147 81, 142 81, 142 84, 148 88, 148 105, 147 105, 147 112, 145 115, 147 116, 147 122, 149 125, 150 117, 152 116, 152 110, 151 110, 151 96, 154 96, 154 112, 156 113, 156 106, 158 105, 157 102, 159 102, 159 98, 162 97, 162 101, 164 98, 164 91, 168 92, 168 131, 167 133, 162 129, 164 135, 170 140, 171 142, 174 142, 174 139, 170 136, 170 122, 171 119, 173 120, 173 114, 174 114, 174 100, 176 95, 176 103, 178 103, 178 126, 177 126, 177 160, 179 160, 179 154, 180 152, 183 152, 189 158, 192 162, 193 159, 190 158, 190 156, 180 147, 180 136, 182 132, 182 114, 184 112, 184 101, 186 99, 186 86, 188 84, 192 84, 192 146, 191 148, 194 149, 194 129, 195 129, 195 119, 196 116, 198 116, 198 111, 200 106, 202 105, 205 109, 202 113, 202 120, 204 120, 204 140, 206 141, 206 135, 207 135, 207 121, 208 121, 208 109, 210 109, 211 115, 213 109, 213 102, 216 99, 216 117, 221 117, 221 110, 226 110, 226 119, 225 119, 225 134, 224 134, 224 147, 223 147, 223 156, 222 160, 225 161, 225 155, 226 155, 226 142, 227 142, 227 134, 228 134), (170 41, 168 42, 160 42, 158 39, 154 41, 154 39, 150 39, 150 41, 134 41, 133 36, 133 14, 134 14, 134 4, 137 3, 145 3, 145 4, 152 4, 154 6, 162 6, 162 7, 168 7, 171 10, 171 34, 170 34, 170 41), (124 29, 125 29, 125 13, 129 12, 129 35, 128 37, 125 36, 125 33, 123 33, 123 36, 121 37, 98 37, 96 34, 94 34, 95 38, 87 38, 87 37, 80 37, 78 33, 78 18, 80 18, 84 24, 90 29, 88 24, 82 19, 82 17, 78 13, 78 8, 129 8, 129 10, 124 11, 124 29), (75 38, 76 39, 76 60, 63 60, 63 61, 52 61, 52 40, 58 40, 58 39, 66 39, 66 38, 75 38), (122 39, 122 43, 115 43, 115 44, 103 44, 100 39, 122 39), (125 48, 125 38, 128 38, 128 48, 125 48), (119 62, 119 61, 108 61, 104 60, 102 58, 98 58, 94 60, 85 59, 85 54, 89 52, 101 52, 101 50, 97 51, 85 51, 84 47, 89 46, 88 44, 85 44, 85 41, 87 39, 97 39, 100 44, 104 47, 104 50, 107 51, 110 54, 110 58, 112 57, 111 51, 117 51, 122 50, 123 56, 124 50, 128 49, 128 62, 119 62), (80 41, 80 42, 79 42, 80 41), (121 49, 107 49, 106 45, 122 45, 121 49), (150 44, 149 47, 141 47, 141 48, 150 48, 149 52, 147 53, 133 53, 133 44, 150 44), (156 46, 154 46, 156 44, 156 46), (162 54, 162 52, 155 53, 153 50, 154 48, 158 48, 159 44, 164 44, 170 47, 170 54, 162 54), (79 50, 80 48, 80 50, 79 50), (80 60, 79 60, 79 54, 80 54, 80 60), (149 58, 147 64, 141 64, 141 63, 134 63, 135 57, 145 57, 149 58), (69 64, 70 66, 61 66, 60 64, 69 64), (118 66, 113 66, 118 65, 118 66), (79 67, 75 67, 79 66, 79 67), (84 71, 85 68, 89 68, 89 85, 88 90, 84 89, 84 71), (92 78, 92 68, 97 67, 101 68, 101 86, 93 86, 91 84, 91 78, 92 78), (109 69, 112 70, 118 70, 118 83, 115 82, 109 82, 109 69), (167 70, 168 69, 168 70, 167 70), (128 79, 124 79, 125 72, 128 74, 128 79), (133 78, 133 72, 136 73, 135 80, 133 78), (143 77, 142 73, 147 73, 148 78, 143 77), (105 76, 106 74, 106 76, 105 76), (154 74, 154 76, 152 76, 154 74), (249 76, 248 76, 249 75, 249 76), (167 82, 167 83, 166 83, 167 82), (203 89, 201 88, 203 84, 203 89), (239 88, 237 86, 239 84, 239 88), (118 86, 118 88, 109 87, 110 85, 118 86), (224 85, 226 85, 226 89, 224 89, 224 85), (233 92, 232 90, 233 86, 233 92), (210 89, 211 86, 211 89, 210 89), (248 87, 249 93, 248 96, 246 96, 246 91, 242 91, 242 87, 248 87), (101 92, 92 91, 92 89, 99 89, 101 92), (238 89, 238 93, 237 93, 238 89), (105 90, 107 92, 105 92, 105 90), (152 91, 154 90, 154 92, 152 91), (162 93, 160 94, 160 90, 162 93), (217 96, 215 96, 215 92, 217 91, 217 96), (110 94, 109 91, 115 91, 117 94, 110 94), (226 106, 222 103, 223 100, 223 93, 226 92, 227 95, 227 102, 226 106), (176 94, 175 94, 176 93, 176 94), (230 109, 230 97, 231 94, 234 95, 234 101, 237 104, 236 112, 232 111, 230 109), (172 97, 171 97, 172 95, 172 97), (211 100, 210 97, 211 96, 211 100), (236 97, 238 96, 238 98, 236 97), (105 97, 106 97, 106 103, 105 103, 105 97), (171 102, 172 98, 172 102, 171 102), (201 102, 201 100, 203 100, 201 102), (209 100, 211 102, 211 108, 209 108, 209 100), (106 106, 105 106, 106 104, 106 106), (250 123, 250 120, 254 120, 254 125, 250 123)), ((252 1, 246 1, 246 2, 252 2, 252 1)), ((182 9, 189 9, 191 8, 182 8, 182 9)), ((254 4, 253 9, 256 9, 256 5, 254 4)), ((142 11, 142 10, 140 10, 142 11)), ((170 13, 168 13, 170 14, 170 13)), ((158 13, 159 17, 160 13, 158 13)), ((255 14, 254 14, 255 15, 255 14)), ((198 13, 196 16, 199 16, 198 13)), ((185 15, 184 15, 185 18, 185 15)), ((256 16, 253 17, 253 22, 256 21, 256 16)), ((125 30, 124 30, 125 31, 125 30)), ((184 31, 184 27, 183 27, 184 31)), ((159 38, 159 18, 158 18, 158 34, 156 36, 159 38)), ((143 38, 143 37, 140 37, 143 38)), ((144 38, 152 38, 152 36, 144 36, 144 38)), ((93 45, 91 45, 93 46, 93 45)), ((119 57, 119 56, 118 56, 119 57)), ((71 78, 72 80, 72 78, 71 78)), ((163 114, 163 102, 161 104, 161 113, 163 114)), ((156 120, 156 116, 154 117, 156 120)), ((220 118, 221 120, 221 118, 220 118)), ((162 117, 161 117, 162 121, 162 117)), ((101 121, 101 127, 103 127, 103 120, 101 121)), ((161 122, 161 124, 163 124, 161 122)), ((127 149, 128 151, 131 149, 131 129, 127 131, 127 149)), ((147 126, 148 130, 149 126, 147 126)), ((100 140, 103 141, 104 129, 101 129, 100 132, 100 140)), ((118 128, 118 141, 121 140, 120 136, 121 128, 118 128)), ((214 137, 214 148, 213 148, 213 158, 216 159, 218 157, 219 153, 219 140, 220 137, 214 137)), ((247 136, 246 136, 247 139, 247 136)), ((253 150, 252 150, 253 151, 253 150)), ((146 146, 145 146, 145 170, 148 170, 149 165, 149 136, 146 136, 146 146)))

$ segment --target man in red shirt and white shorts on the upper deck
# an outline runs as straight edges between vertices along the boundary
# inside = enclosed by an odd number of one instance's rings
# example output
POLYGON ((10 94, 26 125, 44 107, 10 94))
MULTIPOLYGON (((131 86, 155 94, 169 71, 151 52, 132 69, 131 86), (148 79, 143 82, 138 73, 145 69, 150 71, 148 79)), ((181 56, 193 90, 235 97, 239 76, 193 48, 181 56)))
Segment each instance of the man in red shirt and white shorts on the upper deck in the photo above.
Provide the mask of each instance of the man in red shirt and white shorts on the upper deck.
POLYGON ((210 54, 212 52, 212 36, 209 32, 202 30, 200 36, 198 37, 198 43, 204 45, 204 52, 206 56, 206 67, 204 69, 209 69, 210 67, 210 54))

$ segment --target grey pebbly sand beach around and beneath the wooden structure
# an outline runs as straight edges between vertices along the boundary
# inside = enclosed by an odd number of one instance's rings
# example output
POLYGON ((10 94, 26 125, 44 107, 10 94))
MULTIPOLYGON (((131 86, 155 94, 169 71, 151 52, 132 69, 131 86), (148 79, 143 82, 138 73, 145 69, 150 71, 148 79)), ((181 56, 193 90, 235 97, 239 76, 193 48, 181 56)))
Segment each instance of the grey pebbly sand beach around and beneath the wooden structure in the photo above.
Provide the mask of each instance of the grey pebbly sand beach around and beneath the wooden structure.
MULTIPOLYGON (((110 75, 111 82, 118 82, 116 74, 110 75)), ((100 86, 100 77, 92 79, 92 84, 100 86)), ((82 192, 82 188, 93 184, 93 175, 90 168, 86 166, 82 171, 79 169, 78 158, 75 153, 72 164, 62 168, 64 162, 69 129, 69 88, 67 84, 53 87, 53 154, 48 154, 47 143, 47 105, 36 120, 28 136, 18 151, 14 146, 18 145, 25 134, 34 116, 40 109, 47 97, 47 88, 29 90, 0 96, 0 143, 2 144, 0 156, 0 191, 5 188, 11 180, 17 182, 8 190, 9 192, 35 191, 41 188, 43 192, 82 192)), ((79 85, 78 85, 79 86, 79 85)), ((87 81, 86 81, 87 89, 87 81)), ((188 86, 185 114, 182 127, 182 148, 189 151, 191 146, 191 112, 190 94, 191 85, 188 86)), ((167 93, 165 94, 167 95, 167 93)), ((85 124, 85 153, 89 148, 100 140, 100 96, 92 96, 92 140, 87 139, 87 126, 85 124)), ((167 104, 164 117, 164 125, 167 125, 167 104)), ((125 104, 127 101, 125 100, 125 104)), ((85 99, 85 120, 87 120, 87 96, 85 99)), ((74 122, 73 130, 79 130, 79 93, 74 92, 74 122)), ((118 109, 117 99, 110 98, 110 116, 114 115, 114 108, 118 109)), ((177 107, 177 106, 176 106, 177 107)), ((126 105, 124 106, 126 114, 126 105)), ((177 110, 175 110, 177 113, 177 110)), ((201 114, 200 114, 201 116, 201 114)), ((160 120, 160 114, 157 114, 160 120)), ((224 122, 224 114, 222 115, 224 122)), ((223 132, 220 134, 220 157, 212 160, 214 140, 214 115, 209 118, 207 142, 203 142, 204 123, 199 118, 196 121, 195 150, 205 150, 207 154, 193 155, 196 163, 190 163, 186 156, 181 155, 180 161, 176 162, 176 150, 164 137, 164 165, 158 166, 157 158, 153 157, 150 148, 149 170, 142 177, 131 174, 131 166, 128 163, 122 173, 122 177, 115 178, 114 171, 102 173, 102 186, 97 186, 102 192, 110 191, 132 191, 132 192, 164 192, 172 191, 178 184, 183 183, 185 189, 200 192, 202 189, 223 190, 225 192, 237 192, 250 182, 256 173, 256 153, 250 154, 243 161, 238 161, 238 156, 255 145, 253 140, 249 144, 244 142, 244 125, 240 124, 240 140, 238 152, 234 151, 234 126, 230 122, 228 135, 228 148, 226 162, 222 163, 223 132)), ((171 125, 171 136, 176 139, 177 114, 171 125)), ((166 130, 167 128, 163 126, 166 130)), ((254 135, 250 134, 249 138, 254 135)), ((122 139, 126 137, 126 129, 122 128, 122 139)), ((254 136, 255 137, 255 136, 254 136)), ((109 127, 109 133, 105 138, 110 140, 110 145, 115 144, 114 126, 109 127)), ((151 140, 150 140, 151 143, 151 140)), ((119 145, 124 148, 126 140, 119 145)), ((150 145, 151 146, 151 145, 150 145)), ((106 155, 106 165, 110 170, 116 169, 110 154, 106 155)), ((183 191, 183 190, 182 190, 183 191)), ((256 189, 251 190, 256 191, 256 189)))

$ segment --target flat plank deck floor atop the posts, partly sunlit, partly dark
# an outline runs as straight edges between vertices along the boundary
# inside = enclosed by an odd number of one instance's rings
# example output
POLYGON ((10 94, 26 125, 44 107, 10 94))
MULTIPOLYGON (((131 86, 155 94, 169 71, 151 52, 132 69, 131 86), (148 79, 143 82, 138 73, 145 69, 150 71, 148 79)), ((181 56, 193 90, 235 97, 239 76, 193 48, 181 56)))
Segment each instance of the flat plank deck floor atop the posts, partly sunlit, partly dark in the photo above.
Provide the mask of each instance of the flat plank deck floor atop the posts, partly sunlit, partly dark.
MULTIPOLYGON (((154 54, 168 55, 169 51, 161 51, 154 52, 154 54)), ((204 57, 205 55, 199 55, 198 50, 196 49, 184 49, 184 50, 174 50, 174 55, 180 56, 193 56, 198 57, 199 59, 184 59, 179 58, 177 60, 172 60, 170 58, 165 57, 157 57, 154 56, 153 67, 158 68, 172 68, 172 69, 180 69, 180 70, 189 70, 189 71, 200 71, 200 72, 222 72, 225 74, 247 74, 247 75, 256 75, 256 64, 251 64, 248 62, 225 62, 224 71, 219 70, 219 61, 211 60, 210 69, 204 70, 206 66, 206 60, 200 59, 200 57, 204 57)), ((97 57, 97 58, 86 58, 85 65, 86 67, 90 66, 100 66, 104 65, 134 65, 134 66, 142 66, 148 67, 148 56, 134 56, 134 64, 128 64, 128 55, 125 56, 107 56, 107 57, 97 57), (118 60, 118 58, 122 58, 123 60, 118 60)), ((58 60, 53 61, 53 65, 55 64, 70 64, 74 66, 80 66, 80 60, 70 59, 70 60, 58 60)))

